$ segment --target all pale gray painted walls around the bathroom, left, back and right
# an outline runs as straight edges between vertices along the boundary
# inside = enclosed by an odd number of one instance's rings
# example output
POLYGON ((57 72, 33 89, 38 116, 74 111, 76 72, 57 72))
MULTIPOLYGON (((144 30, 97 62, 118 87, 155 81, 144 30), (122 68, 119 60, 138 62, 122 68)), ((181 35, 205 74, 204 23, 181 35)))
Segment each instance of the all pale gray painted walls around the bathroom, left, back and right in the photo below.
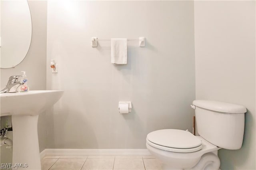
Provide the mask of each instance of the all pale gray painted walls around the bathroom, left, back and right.
POLYGON ((46 72, 47 89, 65 90, 54 108, 39 117, 40 151, 145 148, 152 130, 191 131, 189 105, 196 89, 196 99, 248 109, 242 148, 222 149, 219 156, 221 169, 256 168, 255 2, 48 3, 47 63, 56 59, 59 73, 50 73, 46 65, 47 2, 29 1, 30 50, 17 67, 1 69, 0 85, 24 70, 32 90, 46 89, 46 72), (128 64, 112 65, 110 42, 92 48, 93 36, 145 36, 146 47, 129 42, 128 64), (132 113, 120 115, 118 101, 132 101, 132 113))

